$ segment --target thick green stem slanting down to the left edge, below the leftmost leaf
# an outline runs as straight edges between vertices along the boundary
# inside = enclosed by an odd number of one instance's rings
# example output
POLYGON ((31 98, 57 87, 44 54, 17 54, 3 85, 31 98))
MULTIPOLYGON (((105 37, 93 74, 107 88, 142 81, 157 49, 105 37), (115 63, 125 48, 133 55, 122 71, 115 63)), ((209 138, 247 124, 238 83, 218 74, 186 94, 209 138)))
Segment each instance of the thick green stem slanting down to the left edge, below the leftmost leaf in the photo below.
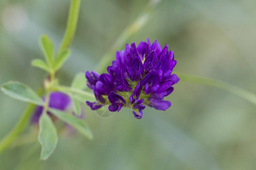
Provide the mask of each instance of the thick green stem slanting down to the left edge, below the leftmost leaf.
MULTIPOLYGON (((38 95, 42 96, 44 92, 43 88, 40 88, 38 95)), ((3 152, 10 144, 16 139, 16 137, 26 128, 28 120, 31 116, 31 113, 35 110, 36 105, 28 104, 27 108, 20 116, 19 121, 14 126, 13 130, 10 131, 1 141, 0 141, 0 153, 3 152)))

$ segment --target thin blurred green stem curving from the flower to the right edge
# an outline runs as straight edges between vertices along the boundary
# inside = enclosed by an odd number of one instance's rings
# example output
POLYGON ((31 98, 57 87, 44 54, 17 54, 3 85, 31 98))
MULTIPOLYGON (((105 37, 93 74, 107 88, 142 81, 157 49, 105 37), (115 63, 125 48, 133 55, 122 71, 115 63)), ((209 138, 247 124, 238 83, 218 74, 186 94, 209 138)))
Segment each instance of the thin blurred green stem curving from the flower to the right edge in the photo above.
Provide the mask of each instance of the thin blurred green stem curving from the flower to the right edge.
POLYGON ((180 80, 184 80, 186 82, 204 84, 207 86, 212 86, 212 87, 220 88, 225 91, 229 91, 232 94, 240 96, 243 99, 249 101, 250 103, 256 105, 255 94, 249 91, 243 90, 240 87, 234 86, 233 84, 221 82, 220 80, 205 78, 203 76, 198 76, 198 75, 177 73, 177 76, 179 76, 180 80))

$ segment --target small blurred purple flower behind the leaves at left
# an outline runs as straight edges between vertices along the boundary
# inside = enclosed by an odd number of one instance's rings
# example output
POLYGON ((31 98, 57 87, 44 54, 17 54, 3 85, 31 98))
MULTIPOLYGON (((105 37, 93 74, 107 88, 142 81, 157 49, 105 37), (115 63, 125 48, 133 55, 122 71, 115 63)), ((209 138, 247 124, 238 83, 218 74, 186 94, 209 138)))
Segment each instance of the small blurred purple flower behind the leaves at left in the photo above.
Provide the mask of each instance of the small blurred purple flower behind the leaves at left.
MULTIPOLYGON (((45 100, 45 97, 43 97, 45 100)), ((59 109, 61 111, 67 111, 71 107, 72 101, 68 95, 61 92, 52 92, 49 95, 49 108, 59 109)), ((38 106, 35 109, 34 114, 31 117, 31 122, 38 123, 39 118, 43 112, 43 107, 38 106)), ((47 112, 51 115, 51 113, 47 112)))

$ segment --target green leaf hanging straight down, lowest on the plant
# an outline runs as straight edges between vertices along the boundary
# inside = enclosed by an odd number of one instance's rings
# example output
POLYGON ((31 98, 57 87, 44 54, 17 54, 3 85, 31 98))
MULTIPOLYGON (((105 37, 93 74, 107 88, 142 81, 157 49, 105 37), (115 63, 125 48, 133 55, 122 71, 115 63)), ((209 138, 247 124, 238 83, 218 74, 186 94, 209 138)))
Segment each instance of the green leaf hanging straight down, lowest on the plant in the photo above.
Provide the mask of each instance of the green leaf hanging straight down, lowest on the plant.
POLYGON ((46 112, 39 120, 38 141, 42 145, 41 159, 47 160, 56 148, 58 137, 57 130, 46 112))

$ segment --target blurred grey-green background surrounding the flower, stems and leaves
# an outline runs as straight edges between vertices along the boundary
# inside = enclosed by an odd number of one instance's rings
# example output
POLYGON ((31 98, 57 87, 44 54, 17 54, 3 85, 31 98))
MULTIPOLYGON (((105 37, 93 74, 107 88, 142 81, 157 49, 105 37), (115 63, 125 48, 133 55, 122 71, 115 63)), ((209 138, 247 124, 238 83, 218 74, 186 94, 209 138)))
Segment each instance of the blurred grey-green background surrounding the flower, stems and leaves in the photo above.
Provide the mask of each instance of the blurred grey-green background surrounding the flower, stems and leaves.
MULTIPOLYGON (((42 86, 45 73, 30 62, 43 58, 38 45, 43 33, 56 49, 59 46, 69 2, 0 1, 0 84, 18 80, 34 89, 42 86)), ((72 55, 59 73, 60 82, 69 85, 76 73, 95 70, 147 3, 83 0, 72 55)), ((256 94, 255 6, 254 0, 163 0, 125 43, 157 39, 174 51, 175 71, 222 80, 256 94)), ((101 118, 84 105, 92 141, 79 133, 61 133, 46 162, 39 160, 38 142, 18 141, 0 155, 0 169, 256 169, 255 105, 182 79, 174 87, 166 97, 172 107, 166 112, 146 108, 142 120, 129 109, 101 118)), ((25 107, 0 92, 0 138, 25 107)), ((36 138, 35 127, 23 134, 31 131, 36 138)))

